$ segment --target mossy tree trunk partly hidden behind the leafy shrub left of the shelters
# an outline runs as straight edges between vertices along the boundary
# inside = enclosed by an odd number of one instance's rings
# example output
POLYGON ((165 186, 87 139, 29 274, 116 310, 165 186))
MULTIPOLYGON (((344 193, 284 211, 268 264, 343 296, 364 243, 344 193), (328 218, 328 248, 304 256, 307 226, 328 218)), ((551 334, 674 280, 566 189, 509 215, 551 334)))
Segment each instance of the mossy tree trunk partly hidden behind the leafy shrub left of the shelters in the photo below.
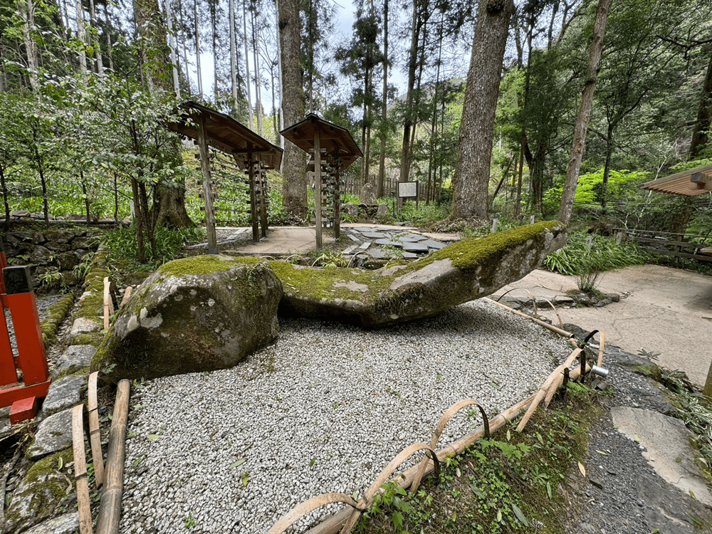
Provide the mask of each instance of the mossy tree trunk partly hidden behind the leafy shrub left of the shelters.
MULTIPOLYGON (((173 78, 172 71, 165 68, 170 65, 170 51, 168 48, 166 27, 160 16, 160 9, 157 0, 133 0, 134 16, 139 28, 142 28, 143 42, 150 46, 147 56, 151 60, 144 66, 145 76, 152 80, 157 88, 162 88, 167 93, 172 93, 173 78)), ((178 138, 174 138, 174 150, 177 161, 181 159, 181 148, 178 138)), ((159 189, 160 195, 158 213, 153 220, 155 224, 164 226, 174 226, 176 228, 187 228, 194 226, 185 209, 185 187, 162 187, 159 189)), ((152 234, 152 225, 147 223, 147 228, 152 234)))

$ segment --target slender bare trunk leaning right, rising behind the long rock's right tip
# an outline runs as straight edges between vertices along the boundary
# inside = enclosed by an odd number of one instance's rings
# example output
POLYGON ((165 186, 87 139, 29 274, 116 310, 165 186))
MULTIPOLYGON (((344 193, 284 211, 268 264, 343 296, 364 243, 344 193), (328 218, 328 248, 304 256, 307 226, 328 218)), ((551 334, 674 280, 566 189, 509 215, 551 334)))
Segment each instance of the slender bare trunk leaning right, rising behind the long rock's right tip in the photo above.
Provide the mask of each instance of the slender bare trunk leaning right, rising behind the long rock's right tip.
POLYGON ((559 207, 559 221, 566 225, 571 222, 574 198, 576 196, 576 185, 578 184, 583 152, 586 147, 586 132, 588 130, 588 121, 591 118, 593 93, 596 88, 598 66, 601 62, 603 35, 606 31, 609 6, 610 0, 598 1, 596 21, 593 26, 593 37, 589 48, 588 70, 586 73, 586 80, 583 84, 583 89, 581 90, 581 105, 579 107, 578 116, 576 117, 574 140, 569 156, 569 165, 566 170, 564 192, 561 195, 561 205, 559 207))

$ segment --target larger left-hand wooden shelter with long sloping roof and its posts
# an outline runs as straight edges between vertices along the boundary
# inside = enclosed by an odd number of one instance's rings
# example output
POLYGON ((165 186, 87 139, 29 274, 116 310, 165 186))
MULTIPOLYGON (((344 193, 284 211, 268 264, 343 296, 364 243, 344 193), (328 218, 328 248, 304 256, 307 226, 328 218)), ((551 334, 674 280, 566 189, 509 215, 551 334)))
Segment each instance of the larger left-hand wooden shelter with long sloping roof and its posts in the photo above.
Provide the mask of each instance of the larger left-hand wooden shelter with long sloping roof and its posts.
POLYGON ((216 182, 211 177, 214 168, 211 164, 209 147, 233 157, 236 164, 241 169, 245 169, 244 172, 248 176, 252 239, 259 241, 260 235, 266 237, 266 169, 279 167, 282 161, 282 149, 229 115, 206 108, 194 100, 186 100, 181 105, 180 115, 182 115, 182 120, 171 122, 167 127, 196 140, 200 150, 208 253, 216 254, 218 251, 215 232, 215 196, 212 191, 216 182))

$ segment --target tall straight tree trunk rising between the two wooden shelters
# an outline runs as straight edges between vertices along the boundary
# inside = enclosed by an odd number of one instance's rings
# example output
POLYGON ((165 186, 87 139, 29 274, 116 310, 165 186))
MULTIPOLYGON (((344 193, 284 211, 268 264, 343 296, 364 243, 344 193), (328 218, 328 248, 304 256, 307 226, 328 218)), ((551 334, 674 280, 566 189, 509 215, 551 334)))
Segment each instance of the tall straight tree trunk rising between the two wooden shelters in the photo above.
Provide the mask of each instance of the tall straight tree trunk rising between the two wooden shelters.
MULTIPOLYGON (((304 88, 300 45, 299 0, 278 0, 279 48, 282 58, 283 120, 289 127, 304 118, 304 88)), ((285 140, 282 158, 282 202, 292 216, 305 219, 307 215, 307 184, 304 152, 285 140)))

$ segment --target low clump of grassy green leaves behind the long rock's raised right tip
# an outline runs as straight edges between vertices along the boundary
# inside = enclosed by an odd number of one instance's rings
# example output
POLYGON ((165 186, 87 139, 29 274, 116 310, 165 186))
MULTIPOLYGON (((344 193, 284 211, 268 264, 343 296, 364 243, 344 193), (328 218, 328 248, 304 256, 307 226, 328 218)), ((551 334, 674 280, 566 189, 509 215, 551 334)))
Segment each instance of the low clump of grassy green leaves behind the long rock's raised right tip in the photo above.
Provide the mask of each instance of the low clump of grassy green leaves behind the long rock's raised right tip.
POLYGON ((639 265, 649 258, 636 244, 617 245, 615 239, 580 231, 569 234, 566 246, 546 256, 544 266, 549 271, 577 276, 639 265))

